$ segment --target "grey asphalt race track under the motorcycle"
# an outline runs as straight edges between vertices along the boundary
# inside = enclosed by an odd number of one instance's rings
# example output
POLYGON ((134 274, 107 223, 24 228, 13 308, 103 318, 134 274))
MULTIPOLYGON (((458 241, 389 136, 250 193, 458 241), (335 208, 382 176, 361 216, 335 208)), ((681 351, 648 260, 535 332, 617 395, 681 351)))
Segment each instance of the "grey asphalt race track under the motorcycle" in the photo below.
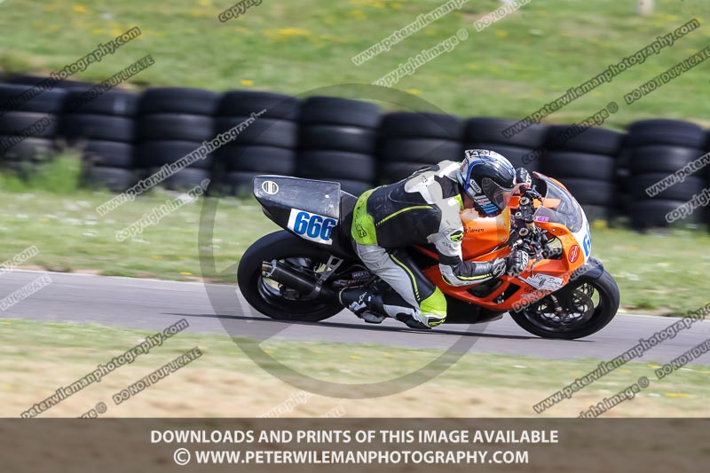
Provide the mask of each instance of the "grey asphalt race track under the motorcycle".
MULTIPOLYGON (((475 337, 475 343, 468 349, 472 352, 605 360, 618 356, 640 338, 649 338, 677 320, 619 314, 600 332, 577 341, 540 339, 517 327, 508 315, 484 325, 445 324, 424 332, 411 330, 391 319, 381 325, 367 324, 349 311, 318 323, 294 324, 269 319, 254 311, 235 291, 236 286, 210 285, 211 296, 208 296, 208 290, 198 282, 20 270, 0 275, 0 297, 10 295, 43 274, 51 277, 51 284, 0 311, 0 319, 94 322, 150 331, 159 331, 179 319, 186 319, 190 324, 187 330, 196 333, 428 349, 448 349, 464 336, 475 337), (222 309, 216 311, 212 301, 222 309)), ((667 363, 708 338, 710 321, 697 322, 675 338, 645 351, 640 360, 667 363)), ((710 365, 710 353, 693 364, 710 365)))

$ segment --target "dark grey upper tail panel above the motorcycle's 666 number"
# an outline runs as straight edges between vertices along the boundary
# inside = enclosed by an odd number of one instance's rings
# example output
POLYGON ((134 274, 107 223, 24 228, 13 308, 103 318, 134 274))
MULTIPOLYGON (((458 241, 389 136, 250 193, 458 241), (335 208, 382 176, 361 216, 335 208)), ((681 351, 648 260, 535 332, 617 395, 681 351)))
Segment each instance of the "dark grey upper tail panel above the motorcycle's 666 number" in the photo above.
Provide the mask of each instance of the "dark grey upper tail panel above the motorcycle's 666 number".
POLYGON ((340 183, 286 176, 254 177, 254 196, 264 207, 299 209, 340 219, 340 183))

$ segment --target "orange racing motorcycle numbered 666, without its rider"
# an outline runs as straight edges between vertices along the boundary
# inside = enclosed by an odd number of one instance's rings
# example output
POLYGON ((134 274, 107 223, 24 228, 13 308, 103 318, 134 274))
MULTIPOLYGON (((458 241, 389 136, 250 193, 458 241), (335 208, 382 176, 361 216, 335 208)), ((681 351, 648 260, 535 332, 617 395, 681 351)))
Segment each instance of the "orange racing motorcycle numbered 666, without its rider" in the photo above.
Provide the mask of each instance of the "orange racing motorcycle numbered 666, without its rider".
MULTIPOLYGON (((564 185, 533 173, 498 217, 461 212, 462 256, 487 261, 526 251, 530 263, 473 286, 448 285, 427 245, 407 248, 446 296, 445 324, 483 323, 505 312, 518 326, 543 338, 577 339, 606 326, 619 309, 619 288, 591 256, 584 210, 564 185), (538 190, 540 189, 540 191, 538 190)), ((283 176, 254 178, 264 215, 284 230, 256 240, 237 271, 248 304, 272 319, 319 321, 343 310, 343 288, 393 290, 359 261, 351 242, 357 198, 335 182, 283 176)))

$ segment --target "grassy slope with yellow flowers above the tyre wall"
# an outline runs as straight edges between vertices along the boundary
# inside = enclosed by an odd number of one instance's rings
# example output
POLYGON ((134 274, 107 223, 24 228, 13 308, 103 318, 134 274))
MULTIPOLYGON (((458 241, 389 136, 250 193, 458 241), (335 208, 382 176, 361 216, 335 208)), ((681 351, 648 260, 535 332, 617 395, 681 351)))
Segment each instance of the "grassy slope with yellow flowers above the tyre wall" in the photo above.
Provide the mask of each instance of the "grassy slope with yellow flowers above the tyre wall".
POLYGON ((698 18, 698 30, 548 119, 580 120, 615 100, 621 108, 607 126, 619 128, 650 116, 710 124, 710 104, 698 99, 707 92, 706 65, 633 106, 623 105, 625 93, 707 45, 710 19, 704 0, 657 0, 650 17, 636 14, 635 0, 533 1, 481 32, 473 28, 474 21, 500 3, 470 1, 365 64, 351 62, 360 51, 443 3, 273 1, 221 23, 217 15, 232 0, 5 2, 0 4, 0 67, 12 72, 59 70, 97 43, 137 25, 143 35, 74 78, 100 81, 150 53, 155 65, 132 83, 300 94, 333 84, 372 83, 467 28, 467 41, 396 88, 454 114, 523 118, 657 35, 698 18))

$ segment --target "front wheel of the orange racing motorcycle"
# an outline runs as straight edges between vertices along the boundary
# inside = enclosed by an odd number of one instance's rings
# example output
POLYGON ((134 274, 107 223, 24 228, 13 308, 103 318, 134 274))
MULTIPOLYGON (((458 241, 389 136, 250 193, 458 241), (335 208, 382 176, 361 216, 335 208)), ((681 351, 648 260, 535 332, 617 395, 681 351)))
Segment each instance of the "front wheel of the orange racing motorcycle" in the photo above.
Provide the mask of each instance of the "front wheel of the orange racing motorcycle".
POLYGON ((604 328, 618 310, 619 287, 604 271, 597 279, 581 276, 520 311, 510 311, 510 316, 533 335, 575 340, 604 328), (557 313, 556 305, 561 305, 566 314, 557 313))

